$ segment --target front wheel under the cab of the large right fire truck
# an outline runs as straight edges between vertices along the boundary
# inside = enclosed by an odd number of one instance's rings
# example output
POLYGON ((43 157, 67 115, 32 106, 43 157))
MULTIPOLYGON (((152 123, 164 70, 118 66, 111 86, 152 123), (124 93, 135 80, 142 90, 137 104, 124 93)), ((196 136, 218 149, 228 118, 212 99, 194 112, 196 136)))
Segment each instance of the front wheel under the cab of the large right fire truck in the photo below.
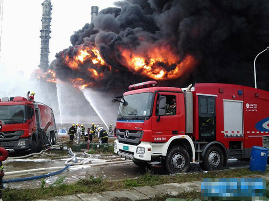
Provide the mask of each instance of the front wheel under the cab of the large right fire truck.
POLYGON ((169 174, 187 172, 190 156, 183 146, 172 147, 163 161, 163 169, 169 174))

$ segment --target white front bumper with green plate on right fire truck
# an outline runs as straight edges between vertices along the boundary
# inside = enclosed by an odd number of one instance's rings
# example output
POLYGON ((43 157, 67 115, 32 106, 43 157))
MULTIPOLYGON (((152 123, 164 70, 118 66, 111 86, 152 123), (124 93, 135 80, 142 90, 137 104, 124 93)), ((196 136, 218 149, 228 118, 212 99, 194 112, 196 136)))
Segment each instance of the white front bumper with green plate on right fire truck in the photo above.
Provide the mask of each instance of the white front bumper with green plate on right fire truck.
POLYGON ((150 142, 141 142, 139 145, 131 145, 114 141, 114 152, 122 158, 130 160, 151 161, 152 146, 150 142))

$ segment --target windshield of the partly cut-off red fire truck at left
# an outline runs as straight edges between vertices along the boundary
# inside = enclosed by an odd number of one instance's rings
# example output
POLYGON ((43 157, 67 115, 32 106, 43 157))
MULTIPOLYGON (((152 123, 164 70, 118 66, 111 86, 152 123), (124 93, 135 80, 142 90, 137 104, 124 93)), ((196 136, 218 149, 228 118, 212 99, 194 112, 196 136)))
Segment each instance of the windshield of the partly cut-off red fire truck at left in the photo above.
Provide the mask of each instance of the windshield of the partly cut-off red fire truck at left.
POLYGON ((0 120, 4 121, 5 124, 25 122, 25 105, 0 106, 0 120))

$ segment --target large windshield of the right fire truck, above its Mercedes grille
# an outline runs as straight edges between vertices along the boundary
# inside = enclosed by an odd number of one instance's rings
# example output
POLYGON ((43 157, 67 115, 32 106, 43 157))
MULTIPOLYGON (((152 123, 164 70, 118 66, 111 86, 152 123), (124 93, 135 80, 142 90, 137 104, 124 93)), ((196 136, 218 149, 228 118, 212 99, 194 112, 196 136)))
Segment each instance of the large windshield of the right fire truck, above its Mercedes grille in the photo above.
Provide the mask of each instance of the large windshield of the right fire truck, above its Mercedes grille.
POLYGON ((124 100, 128 102, 128 105, 124 106, 120 103, 119 106, 119 117, 144 117, 151 114, 151 104, 152 104, 153 93, 140 93, 131 94, 124 96, 124 100))

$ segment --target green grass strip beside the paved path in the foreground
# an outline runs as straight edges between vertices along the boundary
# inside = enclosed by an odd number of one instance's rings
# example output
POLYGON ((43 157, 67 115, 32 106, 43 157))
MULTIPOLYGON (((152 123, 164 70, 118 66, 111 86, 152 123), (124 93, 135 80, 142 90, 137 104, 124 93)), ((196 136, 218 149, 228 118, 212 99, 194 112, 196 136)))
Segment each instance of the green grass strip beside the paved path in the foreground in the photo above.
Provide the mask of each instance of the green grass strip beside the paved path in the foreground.
MULTIPOLYGON (((268 172, 268 170, 267 170, 268 172)), ((74 195, 76 193, 93 193, 102 191, 115 191, 125 188, 132 188, 135 186, 149 185, 154 186, 163 183, 181 183, 198 181, 202 178, 239 178, 241 176, 250 174, 260 174, 260 172, 251 172, 248 168, 240 168, 233 170, 224 171, 211 171, 211 172, 199 172, 199 173, 182 173, 178 175, 166 175, 158 176, 152 172, 147 172, 145 175, 140 176, 136 179, 126 179, 122 181, 107 181, 100 177, 94 178, 92 175, 86 176, 86 179, 80 179, 80 181, 73 184, 65 184, 65 178, 59 178, 54 184, 36 189, 4 189, 3 190, 3 201, 14 201, 14 200, 38 200, 48 199, 55 196, 67 196, 74 195)), ((194 199, 197 197, 197 193, 185 192, 179 196, 179 198, 194 199)), ((171 197, 171 196, 170 196, 171 197)), ((163 199, 166 198, 163 195, 163 199)), ((157 201, 158 199, 154 200, 157 201)))

